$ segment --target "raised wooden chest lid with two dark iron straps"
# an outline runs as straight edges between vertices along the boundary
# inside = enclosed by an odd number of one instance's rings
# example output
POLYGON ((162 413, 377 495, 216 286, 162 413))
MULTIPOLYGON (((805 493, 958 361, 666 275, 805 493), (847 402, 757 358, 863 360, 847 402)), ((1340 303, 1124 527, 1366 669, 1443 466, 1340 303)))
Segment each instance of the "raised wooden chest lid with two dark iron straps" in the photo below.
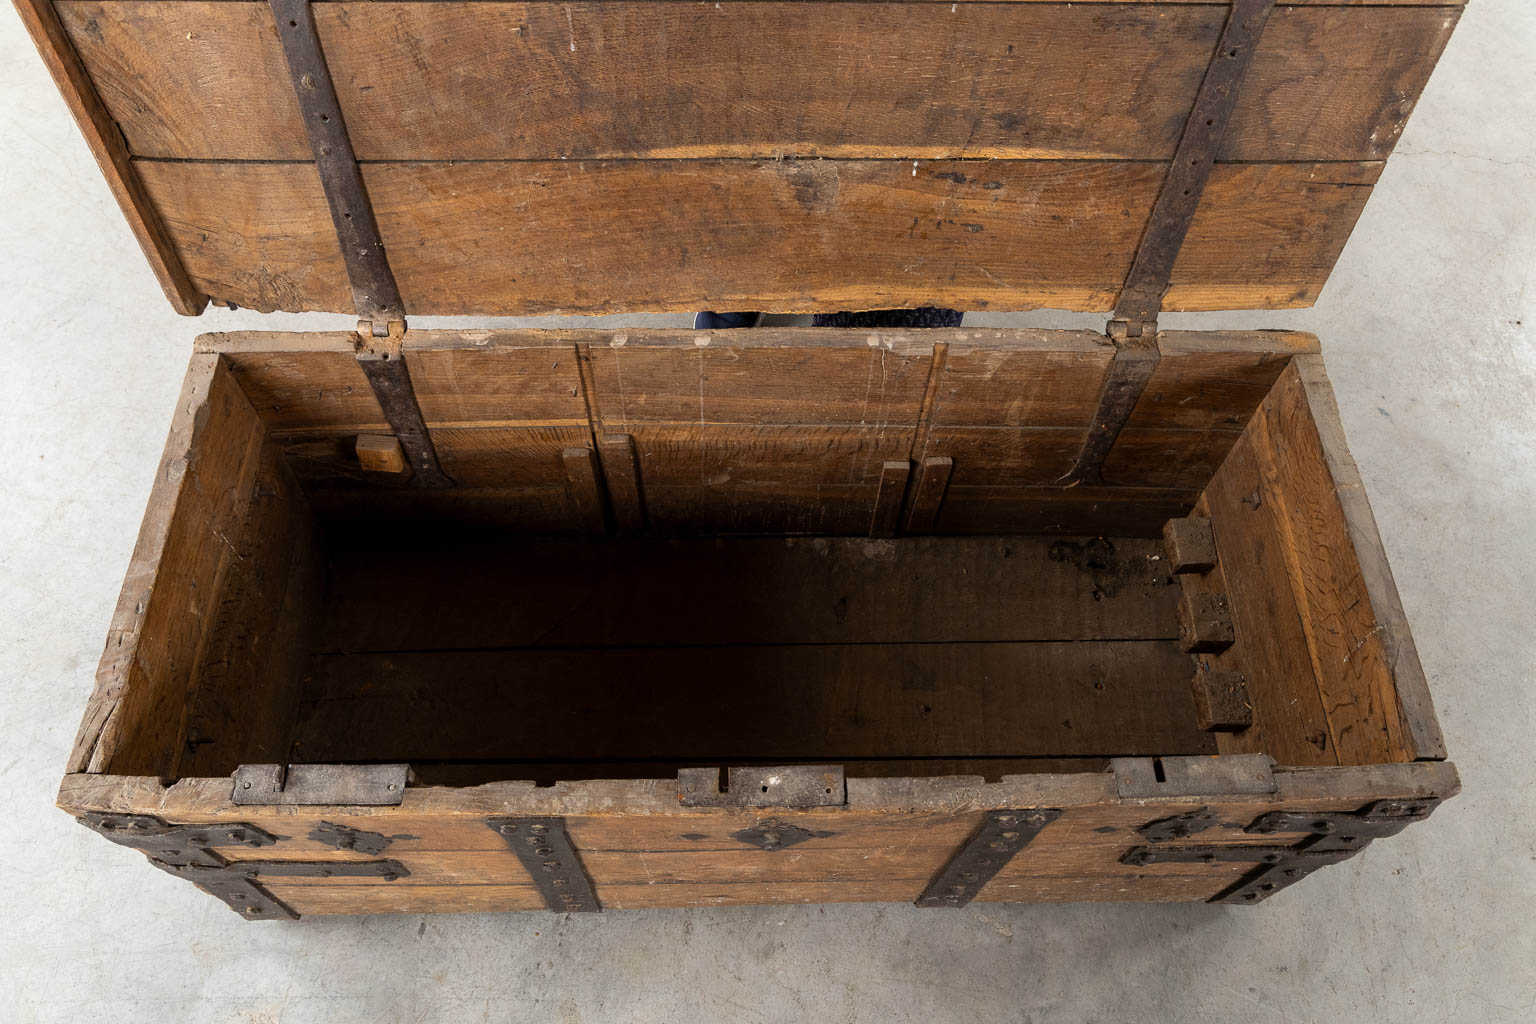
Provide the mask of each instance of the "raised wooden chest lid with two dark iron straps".
POLYGON ((17 0, 172 304, 1312 304, 1461 5, 17 0))

